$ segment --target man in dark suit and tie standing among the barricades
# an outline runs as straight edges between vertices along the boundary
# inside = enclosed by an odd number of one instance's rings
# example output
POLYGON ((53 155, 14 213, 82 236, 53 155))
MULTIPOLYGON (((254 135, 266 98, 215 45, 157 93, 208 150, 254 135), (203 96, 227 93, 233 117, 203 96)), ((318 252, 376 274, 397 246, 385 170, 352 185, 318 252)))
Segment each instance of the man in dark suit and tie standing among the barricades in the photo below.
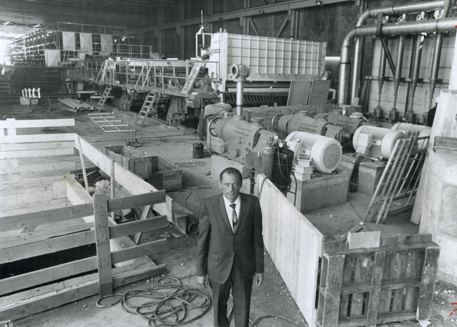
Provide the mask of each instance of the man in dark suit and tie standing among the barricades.
POLYGON ((260 202, 240 193, 241 173, 222 171, 222 194, 203 200, 197 241, 197 281, 213 290, 214 326, 229 326, 227 301, 230 288, 236 327, 249 326, 253 281, 263 281, 263 237, 260 202))

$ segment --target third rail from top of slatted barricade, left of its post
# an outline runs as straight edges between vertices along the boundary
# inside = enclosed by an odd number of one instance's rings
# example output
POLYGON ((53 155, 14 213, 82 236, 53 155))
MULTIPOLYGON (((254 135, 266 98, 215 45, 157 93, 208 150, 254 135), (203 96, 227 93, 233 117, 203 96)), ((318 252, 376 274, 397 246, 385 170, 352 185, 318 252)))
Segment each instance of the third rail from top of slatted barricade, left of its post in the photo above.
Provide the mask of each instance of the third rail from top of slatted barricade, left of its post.
POLYGON ((27 274, 0 280, 0 295, 23 290, 35 285, 41 285, 53 280, 68 278, 69 276, 85 273, 97 269, 97 257, 71 261, 66 264, 35 270, 27 274))

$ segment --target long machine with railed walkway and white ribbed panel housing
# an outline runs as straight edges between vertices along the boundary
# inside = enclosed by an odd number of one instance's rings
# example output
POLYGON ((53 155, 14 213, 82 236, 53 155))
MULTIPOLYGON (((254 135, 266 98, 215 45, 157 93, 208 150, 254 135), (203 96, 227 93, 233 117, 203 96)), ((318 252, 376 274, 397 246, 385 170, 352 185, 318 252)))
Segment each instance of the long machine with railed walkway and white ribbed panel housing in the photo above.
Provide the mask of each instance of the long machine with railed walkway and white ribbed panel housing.
MULTIPOLYGON (((244 90, 245 104, 286 104, 292 80, 320 79, 324 57, 325 42, 229 34, 222 30, 205 33, 201 28, 196 34, 196 56, 191 60, 81 61, 70 79, 121 87, 138 99, 144 95, 146 100, 155 97, 160 100, 154 105, 145 100, 146 114, 159 117, 159 108, 163 107, 168 125, 198 117, 203 126, 206 105, 236 102, 236 81, 231 71, 234 65, 249 63, 246 80, 251 83, 244 90), (205 43, 209 38, 211 41, 205 43)), ((200 134, 202 130, 201 127, 200 134)))

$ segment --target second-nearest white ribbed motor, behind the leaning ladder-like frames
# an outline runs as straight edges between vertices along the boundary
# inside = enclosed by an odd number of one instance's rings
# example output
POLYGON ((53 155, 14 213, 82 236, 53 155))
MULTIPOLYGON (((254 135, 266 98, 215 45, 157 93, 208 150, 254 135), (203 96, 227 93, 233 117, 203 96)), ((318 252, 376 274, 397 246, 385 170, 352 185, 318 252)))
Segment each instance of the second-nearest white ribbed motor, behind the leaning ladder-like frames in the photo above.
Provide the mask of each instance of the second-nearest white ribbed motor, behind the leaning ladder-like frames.
POLYGON ((378 160, 388 159, 395 142, 405 138, 404 133, 388 128, 375 126, 361 126, 357 128, 352 139, 356 153, 378 160))

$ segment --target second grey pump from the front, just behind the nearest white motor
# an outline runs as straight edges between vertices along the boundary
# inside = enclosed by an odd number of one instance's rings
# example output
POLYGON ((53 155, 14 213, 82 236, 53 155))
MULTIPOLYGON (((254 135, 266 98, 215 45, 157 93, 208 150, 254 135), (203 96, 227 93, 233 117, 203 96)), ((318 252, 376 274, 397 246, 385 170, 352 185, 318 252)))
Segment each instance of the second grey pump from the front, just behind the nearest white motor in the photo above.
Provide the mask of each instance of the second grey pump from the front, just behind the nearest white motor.
POLYGON ((292 133, 295 131, 308 132, 335 138, 339 142, 352 139, 352 133, 328 121, 328 114, 315 114, 311 117, 308 111, 299 111, 293 115, 278 114, 273 117, 271 126, 275 131, 292 133), (278 119, 279 118, 279 119, 278 119))

